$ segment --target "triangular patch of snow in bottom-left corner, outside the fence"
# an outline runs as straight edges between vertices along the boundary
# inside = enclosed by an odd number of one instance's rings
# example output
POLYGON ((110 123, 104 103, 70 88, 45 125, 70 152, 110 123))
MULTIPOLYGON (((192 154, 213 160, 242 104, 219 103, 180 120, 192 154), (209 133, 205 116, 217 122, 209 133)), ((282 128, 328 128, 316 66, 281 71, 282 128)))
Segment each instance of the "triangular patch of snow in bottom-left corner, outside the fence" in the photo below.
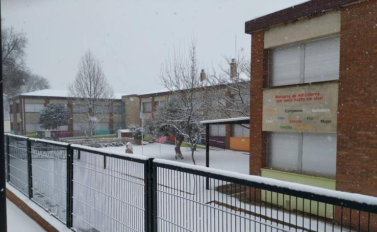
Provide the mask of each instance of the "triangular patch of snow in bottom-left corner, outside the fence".
POLYGON ((9 232, 45 231, 37 222, 31 219, 26 213, 17 207, 12 201, 7 199, 7 224, 9 232))

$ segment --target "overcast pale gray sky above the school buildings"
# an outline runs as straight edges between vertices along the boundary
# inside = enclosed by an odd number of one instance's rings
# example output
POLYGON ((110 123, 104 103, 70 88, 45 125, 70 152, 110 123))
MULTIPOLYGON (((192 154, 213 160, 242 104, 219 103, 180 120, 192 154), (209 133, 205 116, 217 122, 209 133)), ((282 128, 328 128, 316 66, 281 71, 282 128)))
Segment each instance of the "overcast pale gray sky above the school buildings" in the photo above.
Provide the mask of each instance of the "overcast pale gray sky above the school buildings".
POLYGON ((161 63, 175 45, 196 37, 205 68, 243 47, 250 56, 244 22, 303 0, 117 1, 1 0, 4 24, 27 34, 27 65, 66 89, 87 49, 103 62, 115 92, 162 89, 161 63))

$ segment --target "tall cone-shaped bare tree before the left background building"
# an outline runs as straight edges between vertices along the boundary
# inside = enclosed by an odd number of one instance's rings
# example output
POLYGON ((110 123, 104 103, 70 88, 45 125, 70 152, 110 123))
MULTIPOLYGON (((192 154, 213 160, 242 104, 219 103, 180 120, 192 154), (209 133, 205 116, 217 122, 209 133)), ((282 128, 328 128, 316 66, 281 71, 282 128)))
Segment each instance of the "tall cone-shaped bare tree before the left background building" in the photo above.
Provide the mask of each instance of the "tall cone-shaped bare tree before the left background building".
POLYGON ((110 117, 114 98, 102 65, 90 50, 80 59, 76 78, 69 85, 69 93, 74 107, 81 112, 82 132, 86 138, 90 138, 97 124, 110 117))

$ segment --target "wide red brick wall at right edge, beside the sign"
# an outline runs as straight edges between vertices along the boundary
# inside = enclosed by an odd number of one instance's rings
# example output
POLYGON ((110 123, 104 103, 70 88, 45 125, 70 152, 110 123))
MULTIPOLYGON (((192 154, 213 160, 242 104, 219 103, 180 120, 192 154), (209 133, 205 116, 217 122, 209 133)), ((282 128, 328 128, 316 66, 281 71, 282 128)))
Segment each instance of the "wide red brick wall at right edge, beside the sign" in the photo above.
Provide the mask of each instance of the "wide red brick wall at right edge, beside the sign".
POLYGON ((341 10, 336 189, 377 196, 376 0, 341 10))

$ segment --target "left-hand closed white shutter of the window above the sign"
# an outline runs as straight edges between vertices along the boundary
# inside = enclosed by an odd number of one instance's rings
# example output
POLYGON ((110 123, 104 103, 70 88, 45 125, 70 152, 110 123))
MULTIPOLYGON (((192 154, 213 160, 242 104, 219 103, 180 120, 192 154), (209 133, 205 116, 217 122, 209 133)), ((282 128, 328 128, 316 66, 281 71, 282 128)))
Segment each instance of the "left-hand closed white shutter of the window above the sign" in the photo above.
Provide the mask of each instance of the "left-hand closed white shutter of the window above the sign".
POLYGON ((300 83, 301 44, 269 51, 269 86, 300 83))

